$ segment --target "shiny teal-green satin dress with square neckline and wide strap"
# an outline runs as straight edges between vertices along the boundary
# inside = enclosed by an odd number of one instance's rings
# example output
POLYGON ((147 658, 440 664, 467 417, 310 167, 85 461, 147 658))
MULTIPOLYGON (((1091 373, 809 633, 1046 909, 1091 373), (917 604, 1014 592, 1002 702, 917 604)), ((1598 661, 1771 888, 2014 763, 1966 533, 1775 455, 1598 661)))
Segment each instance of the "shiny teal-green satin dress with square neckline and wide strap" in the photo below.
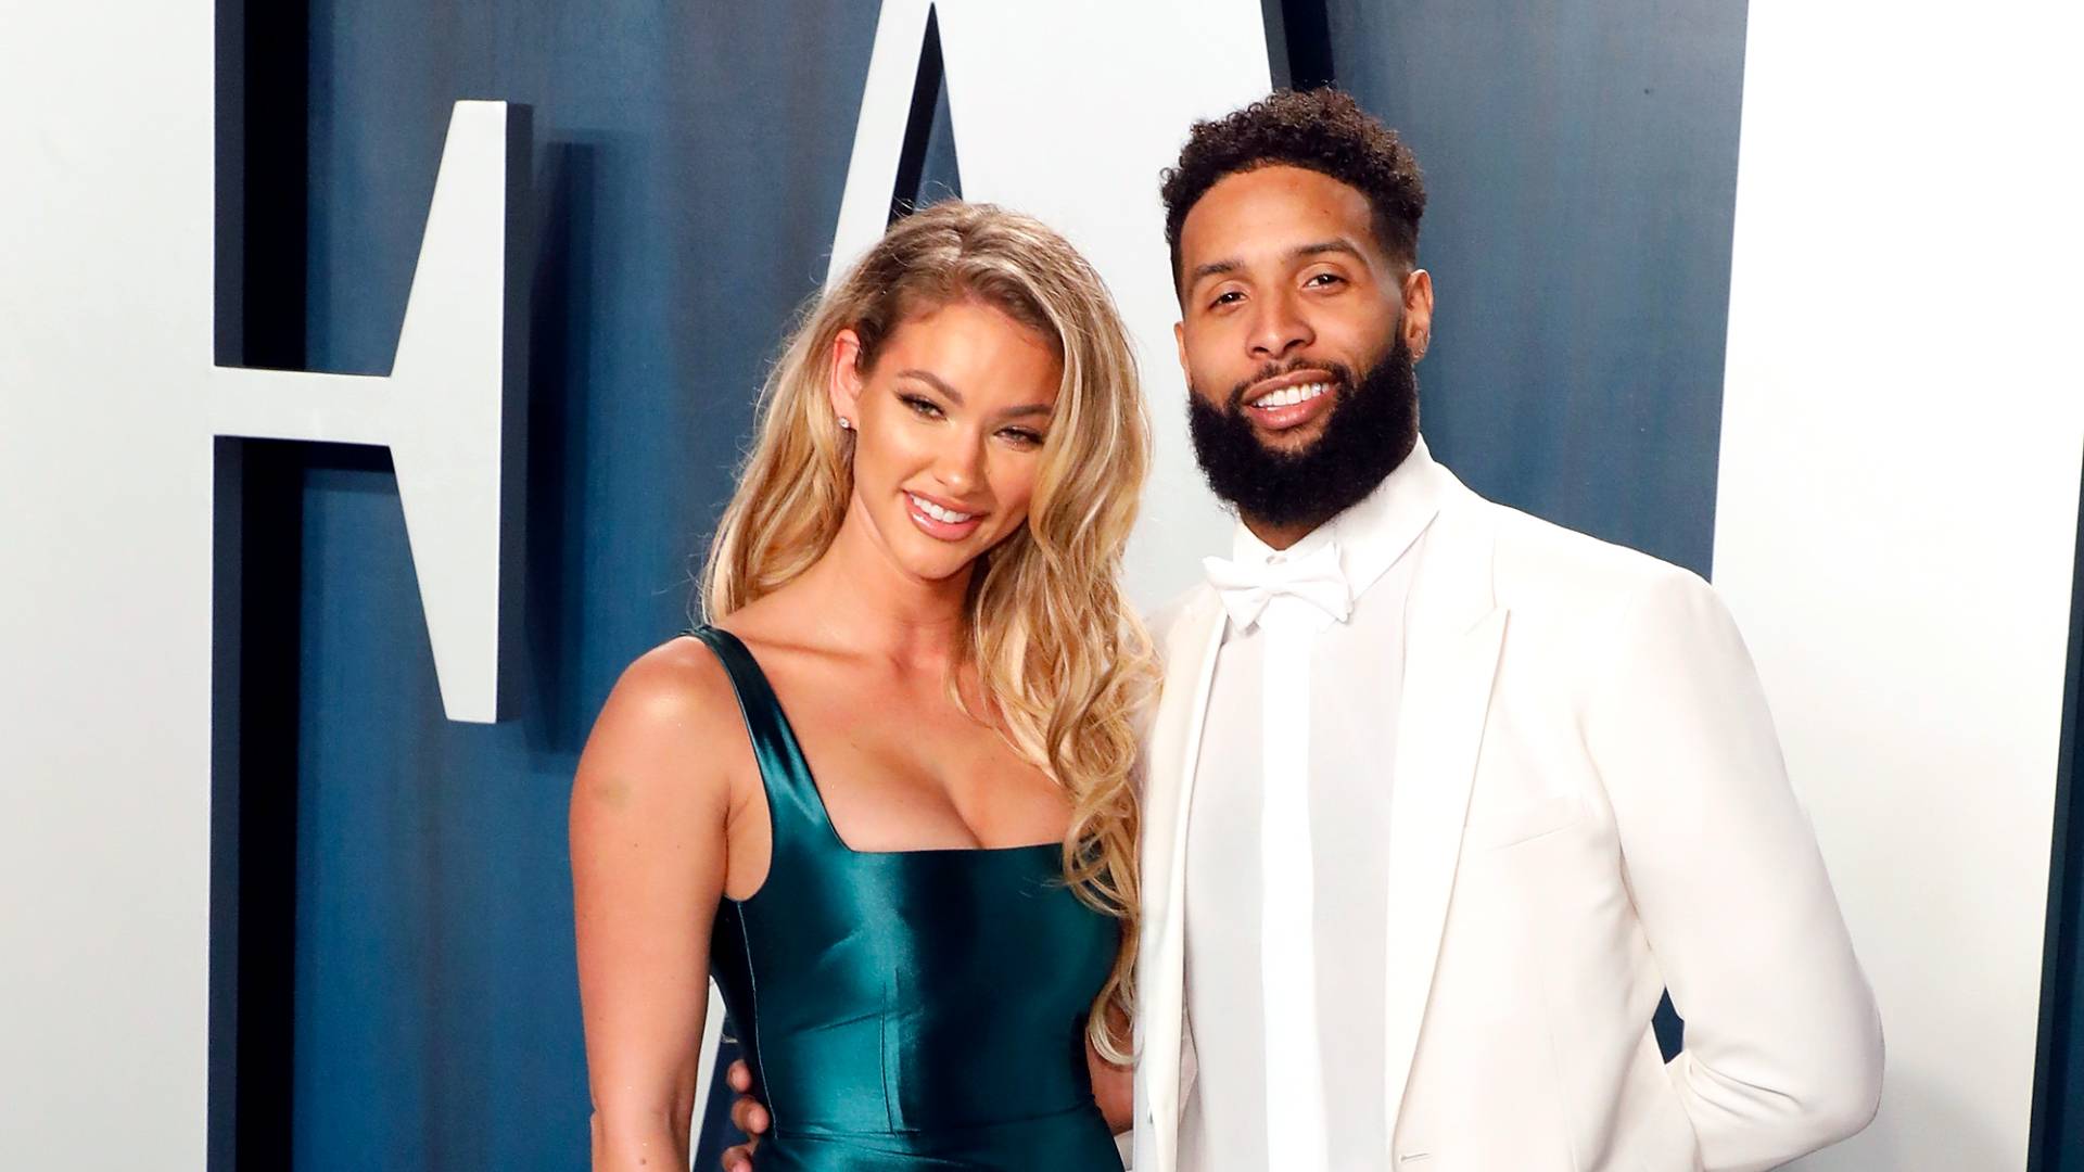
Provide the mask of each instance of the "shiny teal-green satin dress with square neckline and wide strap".
POLYGON ((1086 1076, 1119 932, 1061 849, 848 849, 759 663, 692 634, 731 676, 773 822, 767 882, 723 901, 709 953, 773 1118, 756 1172, 1119 1172, 1086 1076))

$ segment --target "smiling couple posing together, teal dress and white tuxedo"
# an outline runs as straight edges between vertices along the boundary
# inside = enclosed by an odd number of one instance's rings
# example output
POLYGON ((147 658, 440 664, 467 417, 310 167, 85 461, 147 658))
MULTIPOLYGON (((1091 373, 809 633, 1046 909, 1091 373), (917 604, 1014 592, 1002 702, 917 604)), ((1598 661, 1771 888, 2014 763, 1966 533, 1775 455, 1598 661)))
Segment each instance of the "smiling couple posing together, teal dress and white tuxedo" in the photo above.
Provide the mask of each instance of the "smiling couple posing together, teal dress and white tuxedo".
POLYGON ((1425 453, 1411 152, 1282 92, 1163 202, 1240 523, 1148 628, 1136 365, 1069 244, 938 204, 798 325, 711 626, 573 786, 596 1172, 688 1168, 704 974, 761 1172, 1092 1172, 1132 1126, 1136 1172, 1763 1170, 1859 1130, 1880 1020, 1728 613, 1425 453))

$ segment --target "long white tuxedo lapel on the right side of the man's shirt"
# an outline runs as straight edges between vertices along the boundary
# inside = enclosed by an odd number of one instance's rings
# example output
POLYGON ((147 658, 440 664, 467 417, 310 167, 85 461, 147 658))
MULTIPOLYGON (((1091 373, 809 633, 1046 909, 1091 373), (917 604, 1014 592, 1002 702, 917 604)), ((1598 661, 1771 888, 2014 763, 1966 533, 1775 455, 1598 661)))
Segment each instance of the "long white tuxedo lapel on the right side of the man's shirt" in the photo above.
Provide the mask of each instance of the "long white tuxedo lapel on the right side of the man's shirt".
POLYGON ((1488 509, 1446 469, 1405 611, 1405 684, 1390 790, 1384 1118, 1396 1118, 1440 957, 1478 747, 1505 642, 1488 509))

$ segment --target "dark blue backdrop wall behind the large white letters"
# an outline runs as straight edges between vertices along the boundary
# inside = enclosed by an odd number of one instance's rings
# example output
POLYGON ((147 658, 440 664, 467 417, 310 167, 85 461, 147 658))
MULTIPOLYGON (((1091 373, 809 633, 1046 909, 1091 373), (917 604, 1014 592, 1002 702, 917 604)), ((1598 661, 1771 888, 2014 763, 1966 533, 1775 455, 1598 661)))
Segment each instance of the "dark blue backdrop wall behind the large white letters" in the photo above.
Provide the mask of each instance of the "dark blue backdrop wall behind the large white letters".
MULTIPOLYGON (((1742 4, 1265 8, 1277 77, 1338 79, 1425 165, 1434 448, 1707 571, 1742 4)), ((621 665, 684 626, 765 359, 825 273, 875 6, 252 0, 221 21, 227 361, 383 371, 450 102, 527 102, 538 146, 517 719, 442 717, 379 455, 225 457, 248 488, 221 517, 246 719, 217 815, 235 1014, 213 1162, 584 1168, 571 770, 621 665), (292 507, 254 507, 263 484, 292 507)), ((959 190, 944 123, 927 192, 959 190)))

